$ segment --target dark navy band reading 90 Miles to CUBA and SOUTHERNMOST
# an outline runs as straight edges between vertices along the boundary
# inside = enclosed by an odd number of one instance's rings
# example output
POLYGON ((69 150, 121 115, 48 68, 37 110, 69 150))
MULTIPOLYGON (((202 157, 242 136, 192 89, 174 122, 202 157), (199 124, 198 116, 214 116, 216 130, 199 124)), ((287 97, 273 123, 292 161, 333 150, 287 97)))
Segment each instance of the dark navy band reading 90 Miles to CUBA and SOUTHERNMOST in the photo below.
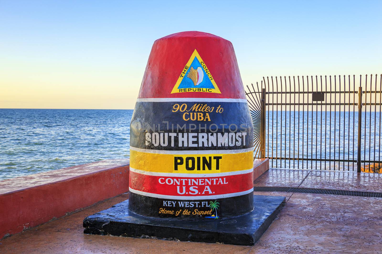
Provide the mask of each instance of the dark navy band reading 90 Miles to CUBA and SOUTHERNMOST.
POLYGON ((253 147, 250 119, 243 102, 137 102, 130 145, 155 150, 247 149, 253 147))

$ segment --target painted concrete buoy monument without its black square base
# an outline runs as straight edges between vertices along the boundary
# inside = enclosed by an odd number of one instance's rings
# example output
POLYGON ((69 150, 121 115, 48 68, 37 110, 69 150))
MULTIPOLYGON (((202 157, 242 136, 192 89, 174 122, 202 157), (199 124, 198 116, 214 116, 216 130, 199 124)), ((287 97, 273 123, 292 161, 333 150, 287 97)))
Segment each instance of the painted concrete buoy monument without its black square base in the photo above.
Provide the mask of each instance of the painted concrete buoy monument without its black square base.
POLYGON ((130 130, 131 211, 181 219, 252 211, 253 129, 229 41, 201 32, 156 40, 130 130))

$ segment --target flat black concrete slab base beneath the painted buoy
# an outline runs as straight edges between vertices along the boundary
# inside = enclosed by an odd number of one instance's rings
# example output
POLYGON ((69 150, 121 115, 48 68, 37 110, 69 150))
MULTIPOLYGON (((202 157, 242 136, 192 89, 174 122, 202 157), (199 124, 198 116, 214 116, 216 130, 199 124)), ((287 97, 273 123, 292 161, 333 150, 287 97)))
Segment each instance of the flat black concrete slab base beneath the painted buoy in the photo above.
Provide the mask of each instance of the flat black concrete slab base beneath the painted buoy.
POLYGON ((283 196, 254 195, 254 210, 223 219, 145 217, 128 210, 129 200, 84 219, 84 233, 204 243, 253 245, 285 204, 283 196))

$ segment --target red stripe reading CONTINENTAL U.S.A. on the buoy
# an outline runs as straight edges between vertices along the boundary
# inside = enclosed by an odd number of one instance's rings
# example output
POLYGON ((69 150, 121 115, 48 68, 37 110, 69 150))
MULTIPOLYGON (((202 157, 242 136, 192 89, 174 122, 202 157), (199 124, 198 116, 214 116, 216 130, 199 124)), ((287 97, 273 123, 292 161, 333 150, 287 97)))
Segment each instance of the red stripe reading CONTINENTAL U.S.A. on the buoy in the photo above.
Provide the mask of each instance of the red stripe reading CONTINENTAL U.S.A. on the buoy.
POLYGON ((131 171, 129 187, 142 192, 180 197, 223 195, 253 188, 253 173, 222 177, 176 177, 150 176, 131 171))

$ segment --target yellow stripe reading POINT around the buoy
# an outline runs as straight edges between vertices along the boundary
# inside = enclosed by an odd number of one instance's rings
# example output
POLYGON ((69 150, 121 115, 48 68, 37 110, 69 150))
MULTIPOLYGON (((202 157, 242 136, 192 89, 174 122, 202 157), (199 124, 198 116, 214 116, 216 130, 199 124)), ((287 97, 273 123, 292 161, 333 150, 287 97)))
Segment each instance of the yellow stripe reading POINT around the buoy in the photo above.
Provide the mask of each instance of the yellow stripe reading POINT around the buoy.
POLYGON ((130 166, 143 171, 163 173, 208 174, 241 171, 253 168, 253 151, 172 155, 130 150, 130 166))

